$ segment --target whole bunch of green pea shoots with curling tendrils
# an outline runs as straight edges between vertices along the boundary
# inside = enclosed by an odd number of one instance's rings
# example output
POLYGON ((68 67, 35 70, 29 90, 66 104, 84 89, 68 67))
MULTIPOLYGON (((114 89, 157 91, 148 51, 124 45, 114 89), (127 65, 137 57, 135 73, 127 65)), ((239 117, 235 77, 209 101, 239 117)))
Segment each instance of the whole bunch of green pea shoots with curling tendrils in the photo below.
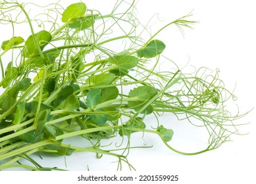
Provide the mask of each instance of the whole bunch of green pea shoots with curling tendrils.
POLYGON ((226 108, 234 95, 218 79, 218 70, 210 75, 202 67, 184 74, 173 62, 171 70, 156 69, 166 45, 155 37, 168 26, 191 28, 196 23, 188 20, 192 14, 166 24, 144 41, 138 34, 134 1, 120 13, 123 4, 128 5, 117 1, 111 13, 101 14, 82 2, 65 9, 57 3, 32 18, 29 5, 0 3, 2 28, 13 30, 0 52, 1 170, 61 170, 41 166, 36 159, 42 152, 95 152, 99 158, 115 156, 118 170, 123 162, 132 170, 128 152, 136 148, 130 145, 133 133, 157 134, 170 150, 186 155, 217 149, 238 134, 234 120, 246 113, 232 115, 226 108), (20 24, 30 35, 16 35, 20 24), (116 43, 126 44, 120 50, 113 48, 116 43), (174 131, 159 121, 170 113, 205 127, 208 146, 197 152, 171 147, 174 131), (155 117, 155 128, 147 125, 147 116, 155 117), (66 143, 70 137, 82 137, 90 145, 66 143), (122 140, 120 147, 101 146, 115 137, 122 140))

